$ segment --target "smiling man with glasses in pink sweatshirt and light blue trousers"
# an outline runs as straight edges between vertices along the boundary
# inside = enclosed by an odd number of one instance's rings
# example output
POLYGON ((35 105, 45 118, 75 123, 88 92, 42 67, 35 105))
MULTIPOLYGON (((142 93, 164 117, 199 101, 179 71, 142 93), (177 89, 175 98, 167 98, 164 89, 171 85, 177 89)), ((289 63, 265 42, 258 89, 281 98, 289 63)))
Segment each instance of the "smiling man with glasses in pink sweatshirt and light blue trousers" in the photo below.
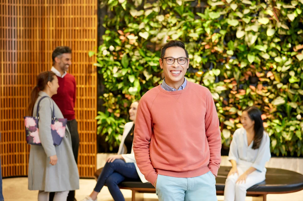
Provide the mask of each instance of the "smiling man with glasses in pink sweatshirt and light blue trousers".
POLYGON ((181 41, 161 49, 163 83, 140 99, 133 151, 160 201, 215 201, 221 132, 210 91, 188 82, 188 52, 181 41))

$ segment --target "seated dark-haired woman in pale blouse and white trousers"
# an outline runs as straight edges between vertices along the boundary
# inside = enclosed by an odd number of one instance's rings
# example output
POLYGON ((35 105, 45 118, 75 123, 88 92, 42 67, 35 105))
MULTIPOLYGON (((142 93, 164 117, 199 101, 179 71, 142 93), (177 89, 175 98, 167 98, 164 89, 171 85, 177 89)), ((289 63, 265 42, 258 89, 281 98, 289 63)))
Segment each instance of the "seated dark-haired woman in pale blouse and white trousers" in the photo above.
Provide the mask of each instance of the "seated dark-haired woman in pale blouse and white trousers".
POLYGON ((242 113, 243 128, 235 131, 230 144, 232 168, 225 181, 224 201, 245 201, 246 190, 265 180, 265 163, 271 154, 261 114, 254 106, 242 113))

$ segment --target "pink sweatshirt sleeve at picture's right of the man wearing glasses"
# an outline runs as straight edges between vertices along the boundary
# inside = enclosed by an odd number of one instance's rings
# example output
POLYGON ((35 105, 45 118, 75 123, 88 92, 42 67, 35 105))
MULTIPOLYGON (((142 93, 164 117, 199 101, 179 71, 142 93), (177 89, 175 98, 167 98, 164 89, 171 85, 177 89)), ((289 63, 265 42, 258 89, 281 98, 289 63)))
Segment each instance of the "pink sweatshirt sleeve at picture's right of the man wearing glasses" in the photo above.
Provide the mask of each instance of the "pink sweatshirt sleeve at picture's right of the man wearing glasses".
POLYGON ((214 103, 213 96, 207 90, 206 94, 206 114, 205 114, 205 134, 208 141, 210 159, 208 168, 217 177, 221 163, 221 131, 219 128, 219 118, 214 103))

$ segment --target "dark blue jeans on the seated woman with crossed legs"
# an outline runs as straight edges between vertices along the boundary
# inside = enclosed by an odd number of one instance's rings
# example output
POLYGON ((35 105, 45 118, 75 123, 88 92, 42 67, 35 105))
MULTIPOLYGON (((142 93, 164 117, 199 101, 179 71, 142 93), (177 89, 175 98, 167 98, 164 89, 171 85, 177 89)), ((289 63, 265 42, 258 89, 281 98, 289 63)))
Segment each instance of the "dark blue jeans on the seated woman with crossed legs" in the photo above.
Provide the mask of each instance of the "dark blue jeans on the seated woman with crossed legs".
POLYGON ((122 159, 116 159, 112 163, 106 163, 98 177, 94 191, 100 192, 106 183, 111 196, 115 201, 124 201, 124 197, 118 184, 125 179, 139 180, 134 163, 125 163, 122 159))

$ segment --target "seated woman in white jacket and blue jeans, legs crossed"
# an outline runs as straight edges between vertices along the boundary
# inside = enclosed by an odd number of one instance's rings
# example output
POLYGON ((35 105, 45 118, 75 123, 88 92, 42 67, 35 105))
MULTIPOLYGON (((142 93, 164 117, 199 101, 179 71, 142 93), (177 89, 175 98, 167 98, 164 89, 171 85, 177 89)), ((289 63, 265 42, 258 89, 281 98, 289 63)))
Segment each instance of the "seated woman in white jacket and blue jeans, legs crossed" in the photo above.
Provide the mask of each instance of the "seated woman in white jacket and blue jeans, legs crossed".
POLYGON ((118 187, 119 183, 127 178, 138 181, 141 180, 143 183, 147 182, 136 164, 135 155, 133 153, 133 133, 138 103, 138 101, 133 102, 128 111, 129 118, 132 122, 128 122, 124 125, 118 155, 106 159, 106 164, 99 175, 94 191, 82 201, 96 201, 97 195, 105 184, 114 200, 123 201, 125 199, 118 187))

